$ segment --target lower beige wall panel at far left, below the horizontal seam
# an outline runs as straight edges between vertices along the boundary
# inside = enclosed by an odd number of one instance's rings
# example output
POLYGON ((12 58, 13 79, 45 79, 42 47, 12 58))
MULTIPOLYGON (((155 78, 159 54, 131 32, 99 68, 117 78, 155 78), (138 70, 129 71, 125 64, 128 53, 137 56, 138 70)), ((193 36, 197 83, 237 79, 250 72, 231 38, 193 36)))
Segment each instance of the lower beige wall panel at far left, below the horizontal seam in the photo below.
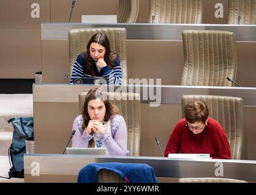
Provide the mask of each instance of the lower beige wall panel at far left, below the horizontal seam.
POLYGON ((0 78, 29 79, 41 71, 39 29, 0 30, 0 78))

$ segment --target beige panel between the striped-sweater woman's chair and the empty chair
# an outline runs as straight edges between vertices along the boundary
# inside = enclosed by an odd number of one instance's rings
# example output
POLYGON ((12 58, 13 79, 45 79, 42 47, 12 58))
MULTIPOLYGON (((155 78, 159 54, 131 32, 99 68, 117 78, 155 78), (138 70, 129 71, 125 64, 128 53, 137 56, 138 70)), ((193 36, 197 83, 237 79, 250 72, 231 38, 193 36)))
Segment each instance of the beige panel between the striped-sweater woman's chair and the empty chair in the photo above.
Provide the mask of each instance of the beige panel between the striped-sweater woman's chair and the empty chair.
POLYGON ((127 41, 129 78, 161 78, 162 85, 179 85, 182 68, 182 41, 127 41))

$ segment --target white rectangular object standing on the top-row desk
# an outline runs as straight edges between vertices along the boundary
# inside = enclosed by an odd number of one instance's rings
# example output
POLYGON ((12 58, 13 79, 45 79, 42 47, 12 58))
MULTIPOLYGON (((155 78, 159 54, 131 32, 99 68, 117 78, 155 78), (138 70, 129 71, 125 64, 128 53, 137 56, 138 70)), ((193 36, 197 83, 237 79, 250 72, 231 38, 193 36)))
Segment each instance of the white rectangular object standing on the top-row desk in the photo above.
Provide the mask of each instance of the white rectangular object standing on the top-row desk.
POLYGON ((116 15, 82 15, 82 23, 118 23, 116 15))

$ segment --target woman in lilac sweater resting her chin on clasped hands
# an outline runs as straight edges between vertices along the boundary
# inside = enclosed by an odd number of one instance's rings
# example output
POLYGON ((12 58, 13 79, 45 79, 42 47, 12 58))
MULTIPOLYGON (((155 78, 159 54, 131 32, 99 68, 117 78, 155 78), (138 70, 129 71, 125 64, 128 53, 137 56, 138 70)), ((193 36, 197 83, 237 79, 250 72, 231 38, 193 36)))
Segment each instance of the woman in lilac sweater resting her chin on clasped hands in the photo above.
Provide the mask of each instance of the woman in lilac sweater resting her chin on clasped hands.
POLYGON ((110 155, 128 155, 126 122, 102 90, 89 90, 81 115, 75 118, 72 147, 105 147, 110 155))

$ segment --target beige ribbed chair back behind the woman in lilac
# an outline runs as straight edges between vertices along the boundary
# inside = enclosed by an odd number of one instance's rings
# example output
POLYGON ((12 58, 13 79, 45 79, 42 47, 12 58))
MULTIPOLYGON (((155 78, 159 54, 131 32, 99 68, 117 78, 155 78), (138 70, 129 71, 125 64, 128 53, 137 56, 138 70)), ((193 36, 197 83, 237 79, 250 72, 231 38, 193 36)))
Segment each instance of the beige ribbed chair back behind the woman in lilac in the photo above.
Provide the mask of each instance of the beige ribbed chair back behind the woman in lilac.
MULTIPOLYGON (((87 92, 79 94, 80 111, 85 103, 87 92)), ((138 93, 107 93, 110 102, 117 105, 120 115, 127 126, 127 150, 131 156, 140 155, 140 94, 138 93)))

